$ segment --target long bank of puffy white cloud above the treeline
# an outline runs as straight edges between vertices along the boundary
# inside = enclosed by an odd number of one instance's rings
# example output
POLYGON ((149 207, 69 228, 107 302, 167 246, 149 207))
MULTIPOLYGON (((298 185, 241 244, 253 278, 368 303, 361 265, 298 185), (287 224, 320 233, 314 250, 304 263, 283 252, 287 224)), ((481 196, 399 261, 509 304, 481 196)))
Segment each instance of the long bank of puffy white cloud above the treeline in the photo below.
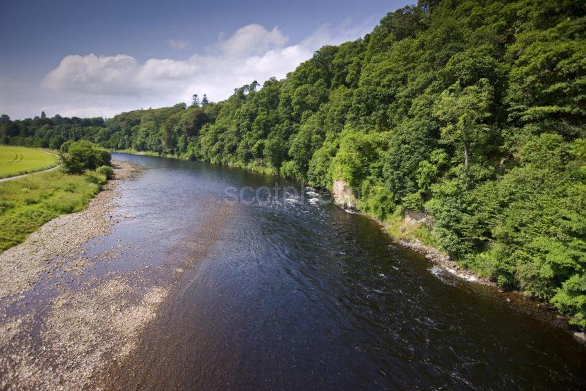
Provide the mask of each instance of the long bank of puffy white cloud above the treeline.
MULTIPOLYGON (((136 108, 150 103, 162 106, 189 101, 194 93, 221 100, 230 96, 234 88, 253 80, 263 83, 270 77, 283 78, 321 46, 361 37, 373 25, 374 21, 365 21, 358 26, 350 26, 350 23, 339 28, 322 26, 300 43, 287 44, 287 37, 279 28, 268 30, 259 24, 250 24, 228 37, 220 34, 205 54, 193 54, 187 60, 139 62, 126 54, 69 55, 46 75, 41 85, 54 93, 83 94, 88 97, 86 102, 95 97, 96 104, 88 110, 92 113, 101 104, 99 102, 108 97, 111 98, 108 108, 104 107, 107 111, 115 99, 128 104, 134 98, 136 108)), ((173 46, 171 41, 169 43, 173 46)), ((68 112, 74 111, 74 106, 74 103, 68 104, 68 112)), ((119 110, 114 109, 114 112, 119 110)), ((110 114, 113 113, 104 112, 104 115, 110 114)))

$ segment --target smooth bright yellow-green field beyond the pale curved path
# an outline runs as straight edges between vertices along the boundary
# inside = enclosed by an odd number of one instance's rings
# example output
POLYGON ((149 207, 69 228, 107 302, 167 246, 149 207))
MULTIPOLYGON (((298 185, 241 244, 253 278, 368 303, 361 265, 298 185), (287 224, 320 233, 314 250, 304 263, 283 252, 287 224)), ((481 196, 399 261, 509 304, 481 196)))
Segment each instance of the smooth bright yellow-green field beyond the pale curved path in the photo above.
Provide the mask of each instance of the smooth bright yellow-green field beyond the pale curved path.
POLYGON ((0 146, 0 179, 57 166, 57 152, 16 146, 0 146))

